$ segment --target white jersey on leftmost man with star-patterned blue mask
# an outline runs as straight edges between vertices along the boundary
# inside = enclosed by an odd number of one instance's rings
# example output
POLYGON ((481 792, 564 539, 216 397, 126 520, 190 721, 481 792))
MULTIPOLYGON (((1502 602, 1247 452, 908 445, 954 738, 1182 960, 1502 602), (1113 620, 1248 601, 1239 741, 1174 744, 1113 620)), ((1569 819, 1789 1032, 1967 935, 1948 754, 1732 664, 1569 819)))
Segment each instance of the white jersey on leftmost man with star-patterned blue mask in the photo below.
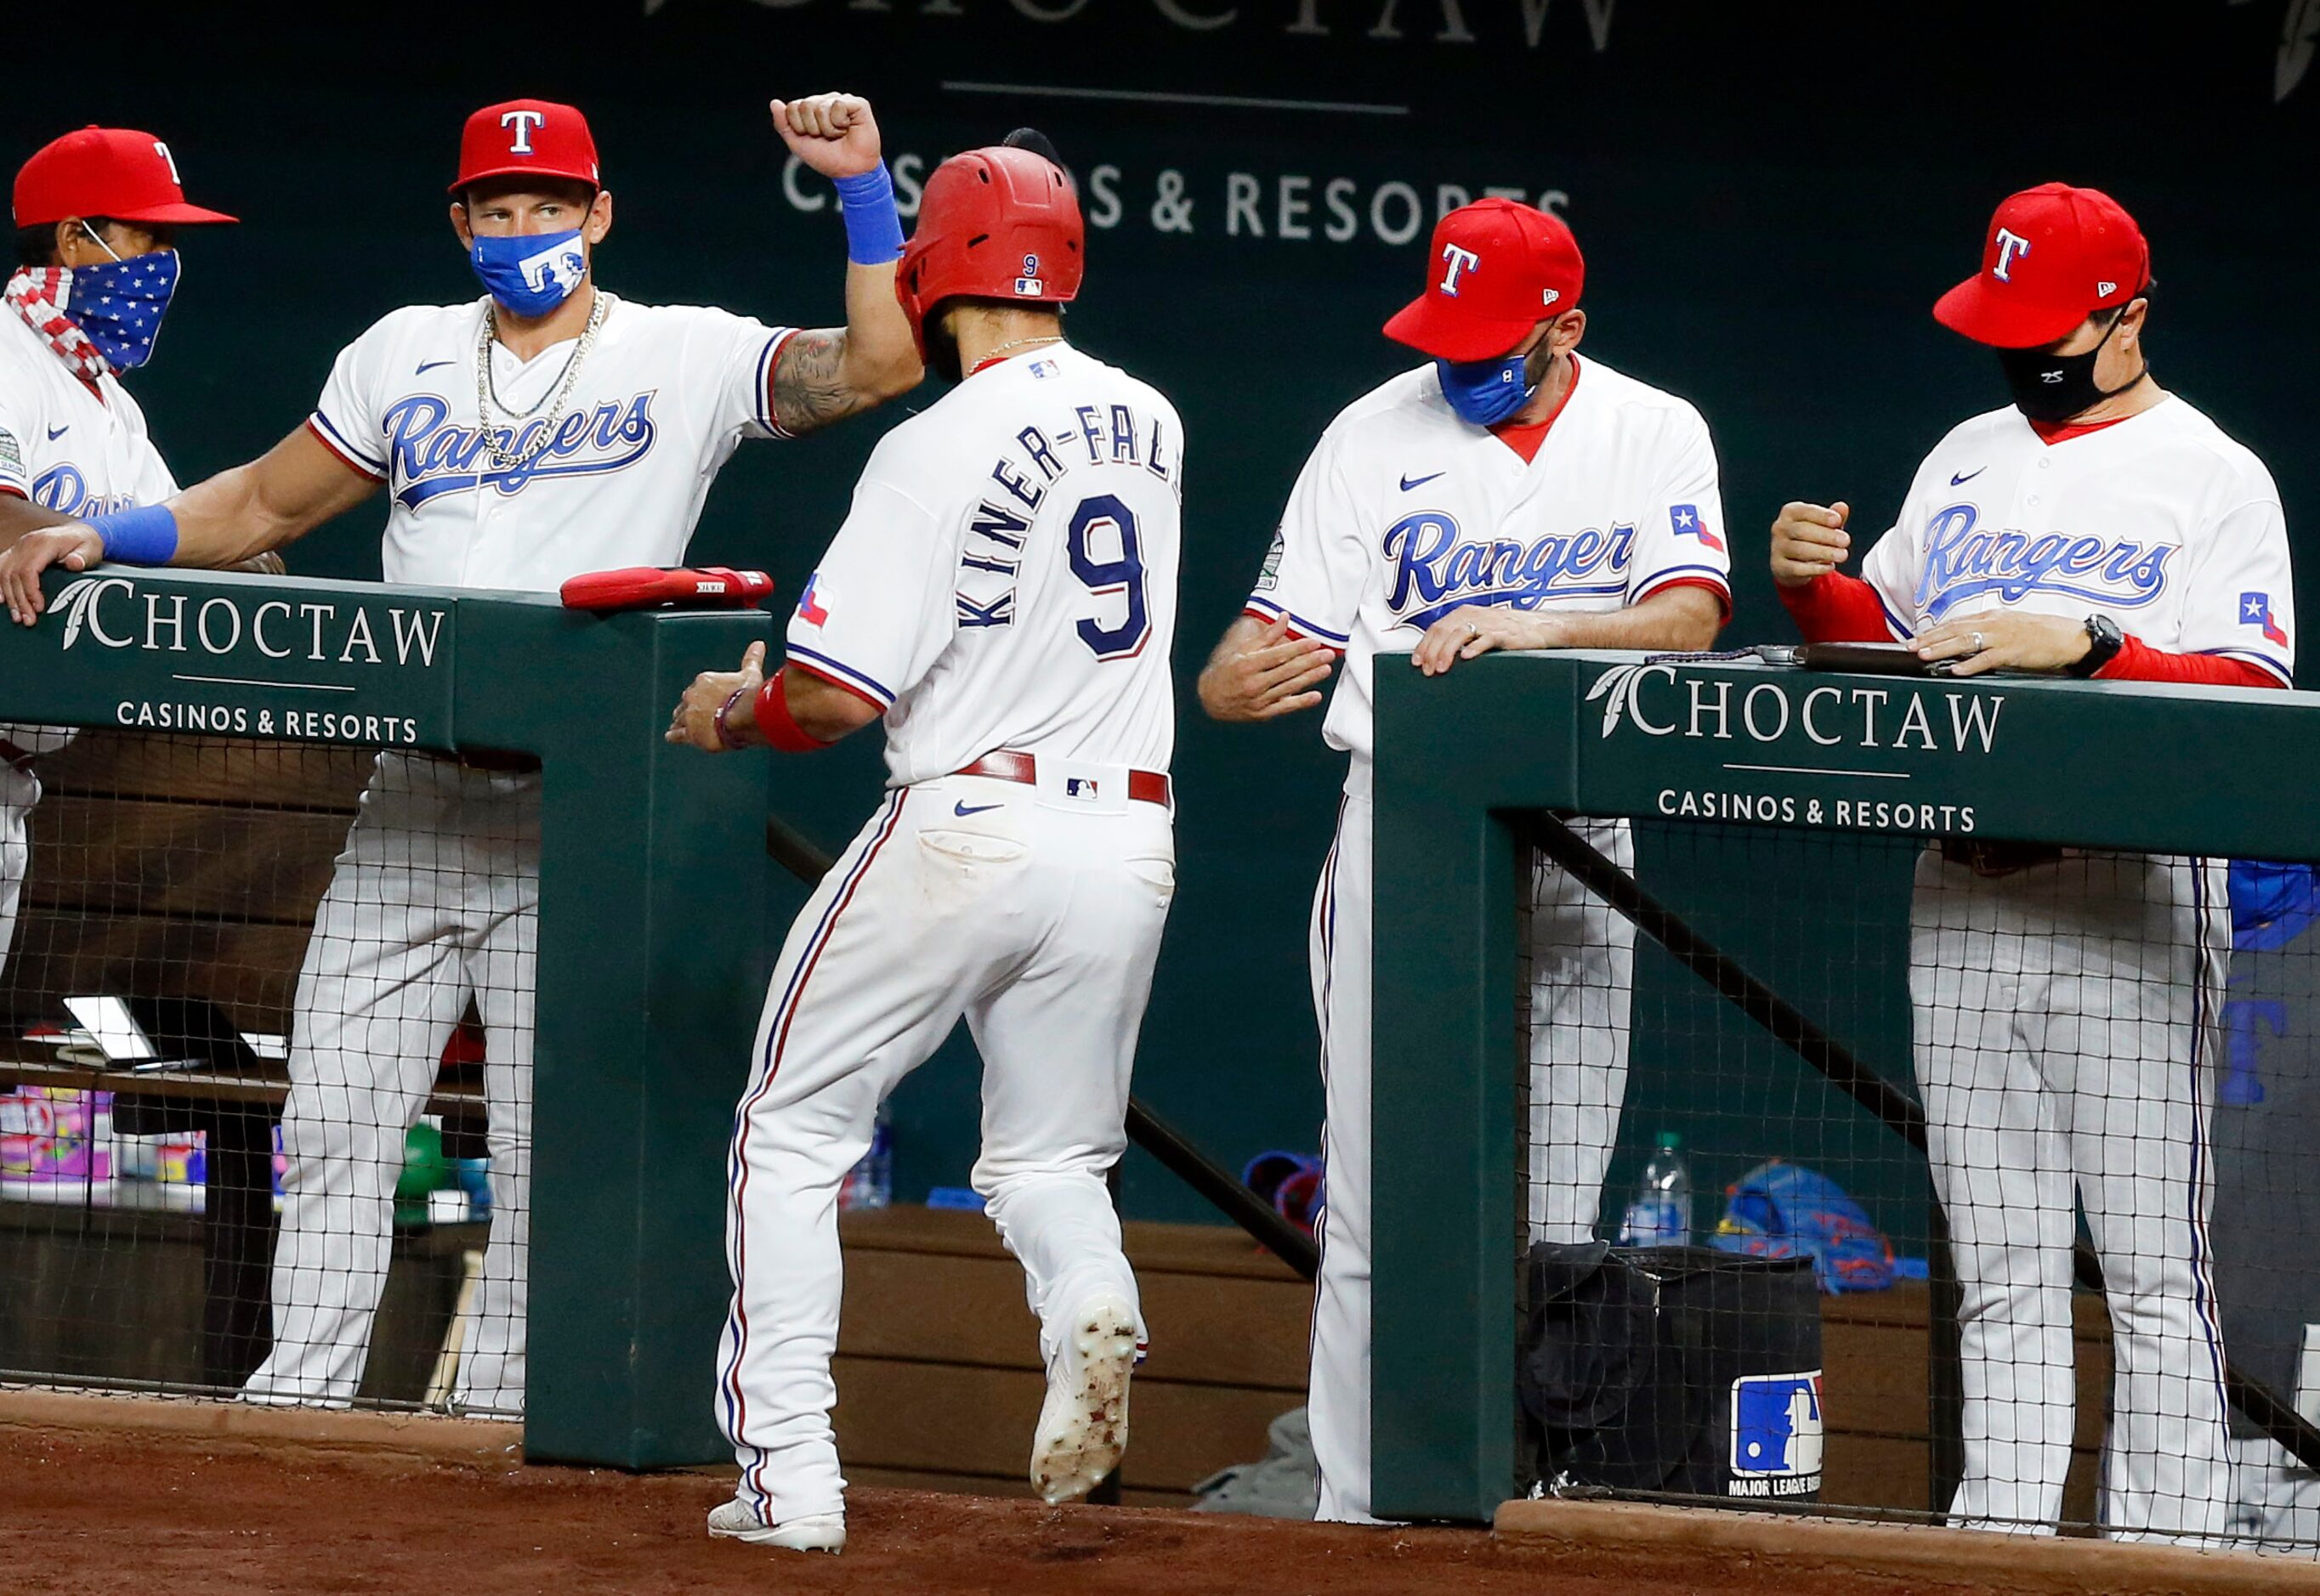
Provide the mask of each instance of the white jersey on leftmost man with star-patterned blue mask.
POLYGON ((0 494, 58 515, 104 515, 174 492, 121 378, 107 371, 90 392, 46 339, 0 309, 0 494))

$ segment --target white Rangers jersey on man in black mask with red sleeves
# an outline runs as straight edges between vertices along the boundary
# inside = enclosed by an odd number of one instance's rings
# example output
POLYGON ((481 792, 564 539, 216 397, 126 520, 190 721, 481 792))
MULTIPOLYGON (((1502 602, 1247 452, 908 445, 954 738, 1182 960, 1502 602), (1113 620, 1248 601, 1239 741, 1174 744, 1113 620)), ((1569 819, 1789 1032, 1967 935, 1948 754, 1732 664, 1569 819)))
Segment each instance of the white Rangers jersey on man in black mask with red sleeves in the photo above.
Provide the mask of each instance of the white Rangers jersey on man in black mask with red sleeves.
POLYGON ((2104 612, 2151 647, 2288 684, 2294 587, 2281 489, 2183 399, 2049 445, 2004 408, 1951 429, 1861 566, 1895 638, 1953 615, 2104 612))

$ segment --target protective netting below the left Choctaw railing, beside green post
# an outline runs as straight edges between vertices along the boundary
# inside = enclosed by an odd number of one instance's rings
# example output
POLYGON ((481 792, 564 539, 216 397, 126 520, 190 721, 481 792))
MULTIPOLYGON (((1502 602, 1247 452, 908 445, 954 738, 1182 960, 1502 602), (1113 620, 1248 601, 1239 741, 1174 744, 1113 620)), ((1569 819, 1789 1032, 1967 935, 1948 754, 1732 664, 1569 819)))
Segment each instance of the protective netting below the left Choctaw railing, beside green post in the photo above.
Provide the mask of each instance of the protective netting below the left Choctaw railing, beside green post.
POLYGON ((538 775, 0 735, 0 1378, 520 1413, 538 775))

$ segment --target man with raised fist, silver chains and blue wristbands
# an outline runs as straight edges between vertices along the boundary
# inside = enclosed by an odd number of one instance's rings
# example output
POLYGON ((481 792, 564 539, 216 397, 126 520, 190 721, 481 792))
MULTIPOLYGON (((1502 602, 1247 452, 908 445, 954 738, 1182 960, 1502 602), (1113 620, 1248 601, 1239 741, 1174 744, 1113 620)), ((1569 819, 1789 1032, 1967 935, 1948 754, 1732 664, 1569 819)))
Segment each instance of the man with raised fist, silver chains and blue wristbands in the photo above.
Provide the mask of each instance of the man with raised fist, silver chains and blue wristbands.
MULTIPOLYGON (((893 297, 902 232, 863 100, 775 104, 847 220, 847 327, 796 332, 601 290, 612 225, 568 104, 466 121, 450 220, 485 297, 394 311, 350 343, 313 415, 262 459, 158 506, 37 531, 0 557, 19 619, 39 568, 218 566, 390 494, 385 578, 554 592, 675 564, 740 438, 793 436, 919 380, 893 297)), ((274 1352, 258 1401, 346 1403, 385 1283, 404 1130, 469 1000, 490 1065, 492 1239, 455 1401, 515 1413, 524 1387, 524 1206, 538 775, 494 759, 380 756, 299 972, 283 1111, 274 1352)))

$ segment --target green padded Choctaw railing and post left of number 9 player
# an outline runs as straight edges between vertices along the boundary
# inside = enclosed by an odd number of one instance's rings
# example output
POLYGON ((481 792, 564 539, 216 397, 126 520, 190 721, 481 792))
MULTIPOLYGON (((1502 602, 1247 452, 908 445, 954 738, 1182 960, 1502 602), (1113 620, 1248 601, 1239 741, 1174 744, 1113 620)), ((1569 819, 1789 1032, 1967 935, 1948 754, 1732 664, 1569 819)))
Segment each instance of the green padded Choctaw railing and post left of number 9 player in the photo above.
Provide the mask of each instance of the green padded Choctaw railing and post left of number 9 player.
POLYGON ((538 754, 524 1450, 722 1457, 726 1141, 768 967, 768 763, 661 731, 768 617, 118 566, 46 592, 37 626, 0 624, 0 719, 538 754))

